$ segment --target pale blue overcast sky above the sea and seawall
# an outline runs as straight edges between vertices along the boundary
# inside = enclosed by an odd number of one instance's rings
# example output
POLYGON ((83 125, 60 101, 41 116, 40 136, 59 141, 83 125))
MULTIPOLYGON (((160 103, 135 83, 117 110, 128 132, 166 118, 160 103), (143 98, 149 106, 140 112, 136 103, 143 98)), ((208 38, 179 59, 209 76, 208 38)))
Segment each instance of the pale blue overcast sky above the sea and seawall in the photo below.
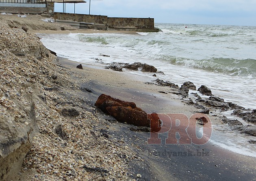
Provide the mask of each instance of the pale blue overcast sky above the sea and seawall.
MULTIPOLYGON (((76 4, 76 13, 89 14, 87 3, 76 4)), ((55 11, 63 6, 55 3, 55 11)), ((74 13, 74 4, 66 5, 74 13)), ((256 26, 256 0, 91 0, 91 15, 152 17, 155 23, 256 26)))

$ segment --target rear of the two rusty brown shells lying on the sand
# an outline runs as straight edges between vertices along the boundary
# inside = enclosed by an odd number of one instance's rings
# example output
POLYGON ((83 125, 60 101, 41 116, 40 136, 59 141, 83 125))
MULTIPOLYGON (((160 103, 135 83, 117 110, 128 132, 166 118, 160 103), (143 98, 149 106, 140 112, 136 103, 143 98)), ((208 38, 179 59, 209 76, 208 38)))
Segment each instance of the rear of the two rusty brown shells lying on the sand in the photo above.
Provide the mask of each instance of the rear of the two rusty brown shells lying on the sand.
POLYGON ((134 102, 121 101, 119 99, 112 98, 111 96, 105 94, 102 94, 98 97, 95 106, 97 108, 100 108, 106 114, 109 114, 109 112, 106 110, 107 107, 130 106, 131 108, 136 108, 136 104, 134 102))

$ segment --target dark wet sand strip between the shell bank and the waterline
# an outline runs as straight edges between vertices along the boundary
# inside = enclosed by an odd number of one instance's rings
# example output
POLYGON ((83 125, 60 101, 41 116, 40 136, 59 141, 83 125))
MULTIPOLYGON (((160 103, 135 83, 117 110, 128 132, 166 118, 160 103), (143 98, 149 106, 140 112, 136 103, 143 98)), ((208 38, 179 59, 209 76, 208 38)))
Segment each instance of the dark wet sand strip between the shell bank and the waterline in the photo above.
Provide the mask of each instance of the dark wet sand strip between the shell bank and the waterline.
MULTIPOLYGON (((65 58, 59 58, 59 63, 90 80, 81 82, 81 86, 92 90, 86 95, 91 105, 104 93, 121 100, 133 101, 146 112, 182 113, 191 116, 198 110, 182 102, 177 95, 159 93, 160 90, 168 90, 166 87, 144 84, 141 76, 92 65, 82 65, 83 70, 76 69, 80 63, 65 58)), ((105 118, 100 111, 98 115, 105 118)), ((209 117, 213 124, 219 122, 218 118, 209 117)), ((110 125, 110 135, 117 139, 126 138, 126 144, 140 155, 140 159, 130 163, 130 167, 133 172, 141 174, 143 180, 256 179, 255 158, 232 153, 211 142, 204 145, 163 144, 166 134, 159 135, 162 144, 147 144, 150 133, 131 131, 130 125, 115 121, 110 121, 110 125)))

